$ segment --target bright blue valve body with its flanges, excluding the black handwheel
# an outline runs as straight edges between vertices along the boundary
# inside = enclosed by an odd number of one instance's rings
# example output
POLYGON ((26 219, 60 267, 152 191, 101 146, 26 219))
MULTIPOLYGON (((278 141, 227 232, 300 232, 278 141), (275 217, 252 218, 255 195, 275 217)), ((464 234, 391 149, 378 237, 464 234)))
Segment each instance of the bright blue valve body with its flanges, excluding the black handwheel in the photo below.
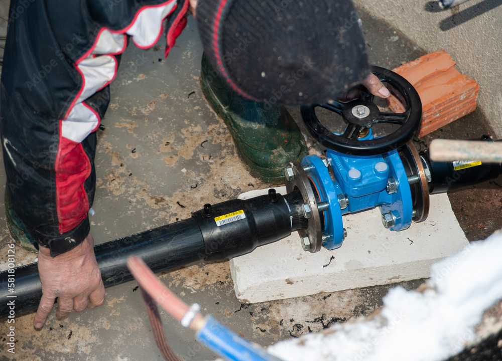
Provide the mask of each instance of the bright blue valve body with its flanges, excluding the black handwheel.
POLYGON ((342 245, 345 238, 342 215, 348 213, 379 207, 383 223, 391 231, 410 227, 413 200, 397 150, 383 155, 357 156, 328 149, 326 159, 317 155, 303 158, 302 168, 318 207, 321 205, 323 247, 332 250, 342 245))

